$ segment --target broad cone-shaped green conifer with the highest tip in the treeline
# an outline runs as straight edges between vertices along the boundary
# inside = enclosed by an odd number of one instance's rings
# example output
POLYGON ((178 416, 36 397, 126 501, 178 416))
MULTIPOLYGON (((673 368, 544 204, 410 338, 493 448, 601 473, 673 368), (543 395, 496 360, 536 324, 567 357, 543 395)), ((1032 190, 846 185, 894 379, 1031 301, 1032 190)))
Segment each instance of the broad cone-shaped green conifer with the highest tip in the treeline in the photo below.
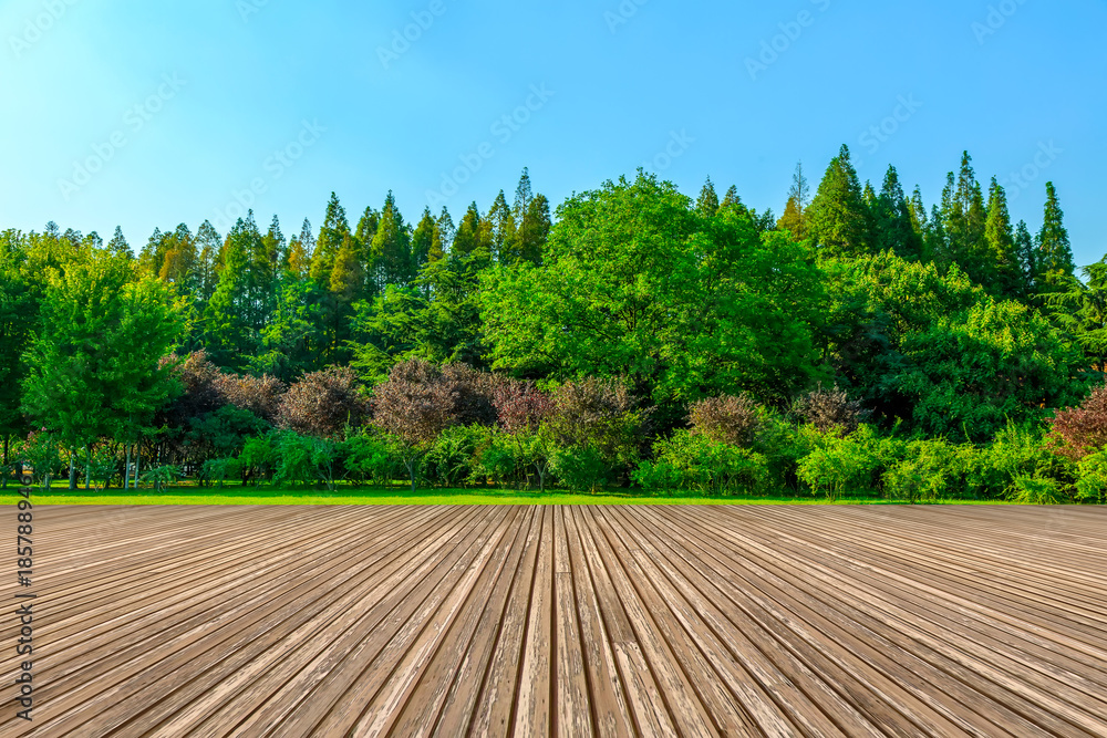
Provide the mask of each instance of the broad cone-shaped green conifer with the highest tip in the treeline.
POLYGON ((869 250, 868 208, 848 146, 830 160, 808 216, 809 233, 825 254, 857 256, 869 250))

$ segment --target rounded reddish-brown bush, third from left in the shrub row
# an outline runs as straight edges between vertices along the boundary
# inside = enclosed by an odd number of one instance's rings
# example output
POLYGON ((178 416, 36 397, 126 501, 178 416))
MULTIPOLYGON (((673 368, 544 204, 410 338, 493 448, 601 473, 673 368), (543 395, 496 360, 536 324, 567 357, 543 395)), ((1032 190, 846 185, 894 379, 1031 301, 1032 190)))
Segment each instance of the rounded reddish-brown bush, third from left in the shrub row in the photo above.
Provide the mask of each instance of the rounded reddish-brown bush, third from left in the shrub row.
POLYGON ((369 404, 361 396, 356 375, 350 367, 304 374, 281 396, 278 425, 297 433, 330 438, 349 424, 361 425, 369 404))

